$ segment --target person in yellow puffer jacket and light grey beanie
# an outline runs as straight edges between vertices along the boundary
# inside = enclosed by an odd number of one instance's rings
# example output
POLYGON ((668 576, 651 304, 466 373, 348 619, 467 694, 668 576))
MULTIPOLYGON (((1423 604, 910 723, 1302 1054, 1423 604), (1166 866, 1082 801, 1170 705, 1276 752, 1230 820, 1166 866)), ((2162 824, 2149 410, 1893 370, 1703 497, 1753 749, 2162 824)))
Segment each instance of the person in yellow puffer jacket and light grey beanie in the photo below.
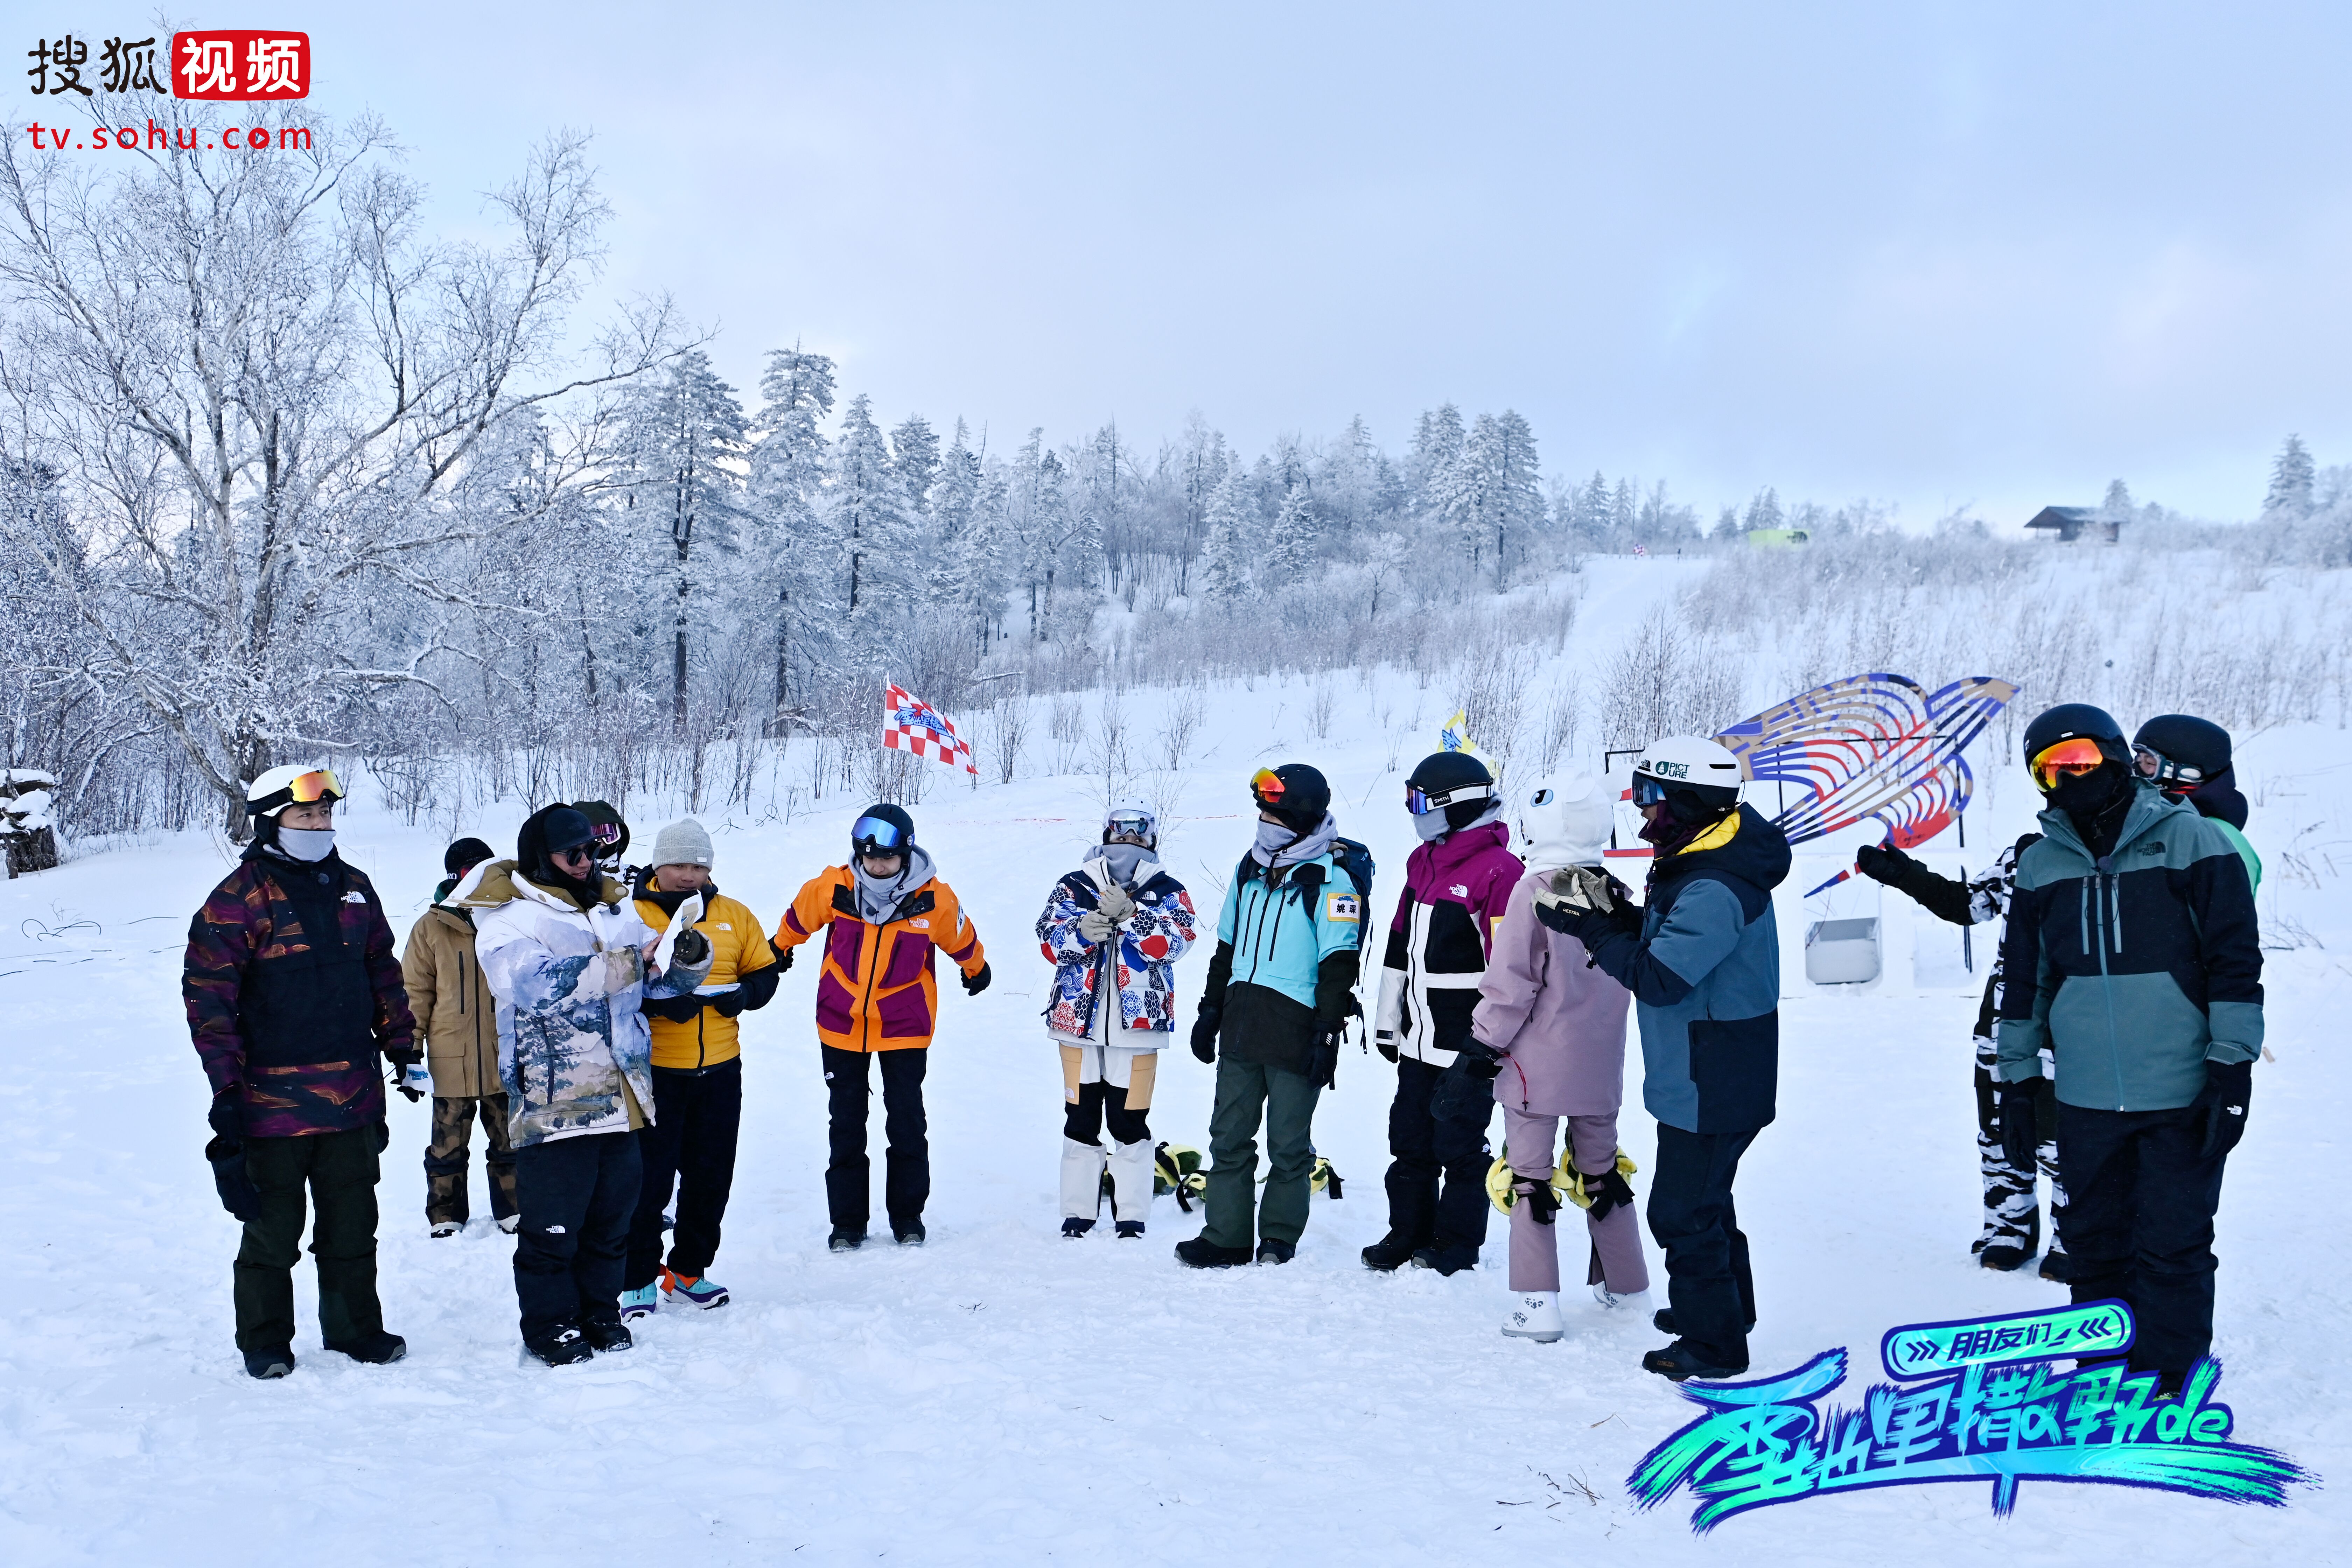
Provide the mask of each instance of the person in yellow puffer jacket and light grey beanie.
POLYGON ((734 1185, 736 1128, 743 1121, 743 1044, 739 1013, 767 1006, 790 954, 769 947, 760 917, 720 893, 710 879, 710 835, 691 816, 654 837, 654 863, 630 877, 647 926, 663 931, 677 907, 703 898, 694 924, 710 938, 710 976, 691 997, 647 1001, 654 1027, 654 1121, 637 1128, 644 1185, 628 1225, 621 1316, 654 1312, 659 1300, 724 1307, 727 1288, 710 1281, 720 1220, 734 1185), (677 1185, 677 1229, 661 1258, 661 1211, 677 1185), (659 1284, 659 1291, 656 1291, 659 1284), (659 1298, 659 1300, 656 1300, 659 1298))

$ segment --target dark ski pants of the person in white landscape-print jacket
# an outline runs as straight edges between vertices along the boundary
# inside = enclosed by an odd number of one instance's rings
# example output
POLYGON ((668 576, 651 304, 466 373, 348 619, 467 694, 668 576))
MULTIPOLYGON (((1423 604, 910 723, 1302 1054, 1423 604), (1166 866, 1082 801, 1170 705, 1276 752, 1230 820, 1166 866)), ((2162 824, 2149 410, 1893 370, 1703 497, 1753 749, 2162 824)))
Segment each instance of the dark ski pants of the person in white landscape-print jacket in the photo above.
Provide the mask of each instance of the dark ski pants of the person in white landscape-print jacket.
POLYGON ((515 1305, 522 1338, 621 1321, 621 1262, 644 1161, 637 1135, 583 1133, 515 1150, 515 1305))

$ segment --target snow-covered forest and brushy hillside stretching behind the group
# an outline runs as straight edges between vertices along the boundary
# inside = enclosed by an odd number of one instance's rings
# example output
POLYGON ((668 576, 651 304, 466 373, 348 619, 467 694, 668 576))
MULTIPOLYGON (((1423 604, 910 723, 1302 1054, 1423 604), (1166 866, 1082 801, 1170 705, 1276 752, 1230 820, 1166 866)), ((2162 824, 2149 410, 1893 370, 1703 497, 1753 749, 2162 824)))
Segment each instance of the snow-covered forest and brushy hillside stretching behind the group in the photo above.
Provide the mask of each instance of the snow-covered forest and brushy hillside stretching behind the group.
POLYGON ((1211 682, 1303 679, 1327 736, 1369 722, 1343 672, 1383 668, 1541 764, 1865 668, 2345 722, 2343 581, 2314 569, 2352 564, 2352 468, 2298 440, 2246 522, 2110 484, 2124 543, 2067 548, 2100 559, 2058 588, 2013 517, 1698 503, 1583 473, 1573 430, 1512 409, 1265 451, 1207 414, 971 428, 802 346, 731 388, 670 301, 597 310, 612 212, 579 139, 449 240, 381 127, 310 125, 310 155, 230 165, 0 155, 0 764, 64 780, 73 839, 238 830, 242 780, 310 755, 447 823, 920 792, 873 750, 882 679, 1002 780, 1176 771, 1211 682), (1595 646, 1592 555, 1705 569, 1595 646), (1075 696, 1129 686, 1192 696, 1157 736, 1075 696))

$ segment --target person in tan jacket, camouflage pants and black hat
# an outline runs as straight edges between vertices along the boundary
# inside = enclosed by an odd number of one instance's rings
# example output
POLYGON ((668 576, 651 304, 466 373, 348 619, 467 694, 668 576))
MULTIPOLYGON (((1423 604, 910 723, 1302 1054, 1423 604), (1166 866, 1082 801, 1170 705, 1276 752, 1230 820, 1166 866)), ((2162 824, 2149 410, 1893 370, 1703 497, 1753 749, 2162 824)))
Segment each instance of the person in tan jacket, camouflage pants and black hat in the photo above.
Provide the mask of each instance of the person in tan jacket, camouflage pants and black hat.
POLYGON ((433 1143, 426 1145, 426 1222, 435 1237, 466 1229, 466 1161, 473 1119, 482 1117, 489 1150, 489 1218, 515 1229, 515 1150, 506 1138, 506 1088, 499 1084, 499 1004, 473 957, 473 914, 449 903, 449 891, 494 853, 482 839, 459 839, 442 856, 449 877, 433 889, 433 907, 409 929, 400 978, 409 987, 433 1072, 433 1143))

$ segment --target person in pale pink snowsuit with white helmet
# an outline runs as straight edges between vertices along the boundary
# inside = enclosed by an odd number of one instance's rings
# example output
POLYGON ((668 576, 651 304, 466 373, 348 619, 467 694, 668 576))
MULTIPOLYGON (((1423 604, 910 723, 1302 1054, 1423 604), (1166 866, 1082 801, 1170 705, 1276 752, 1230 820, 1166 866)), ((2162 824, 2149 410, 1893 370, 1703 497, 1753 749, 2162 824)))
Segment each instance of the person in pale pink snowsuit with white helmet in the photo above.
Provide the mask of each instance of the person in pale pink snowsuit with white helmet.
POLYGON ((1503 1147, 1517 1175, 1510 1208, 1512 1312, 1503 1333, 1557 1340, 1559 1232, 1550 1178, 1562 1119, 1569 1124, 1571 1161, 1592 1194, 1585 1284, 1604 1307, 1649 1288, 1632 1190, 1616 1171, 1632 994, 1585 961, 1583 943, 1536 922, 1536 889, 1552 872, 1602 863, 1609 844, 1606 788, 1588 773, 1548 780, 1517 802, 1515 816, 1526 877, 1512 889, 1494 933, 1470 1032, 1503 1058, 1494 1098, 1503 1105, 1503 1147))

